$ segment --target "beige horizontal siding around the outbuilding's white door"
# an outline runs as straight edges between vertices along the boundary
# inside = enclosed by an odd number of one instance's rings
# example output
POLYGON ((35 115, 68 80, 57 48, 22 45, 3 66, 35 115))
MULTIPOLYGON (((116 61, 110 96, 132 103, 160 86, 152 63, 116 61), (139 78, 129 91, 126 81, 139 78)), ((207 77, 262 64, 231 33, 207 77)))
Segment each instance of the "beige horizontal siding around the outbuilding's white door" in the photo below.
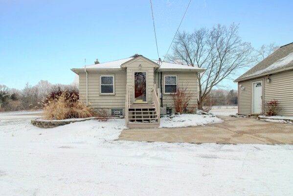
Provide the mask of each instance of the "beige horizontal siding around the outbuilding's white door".
POLYGON ((251 83, 258 80, 263 80, 264 101, 277 99, 282 108, 277 114, 293 116, 293 71, 270 75, 270 82, 266 81, 266 77, 239 82, 238 114, 251 114, 251 83), (245 89, 241 90, 239 85, 245 89))

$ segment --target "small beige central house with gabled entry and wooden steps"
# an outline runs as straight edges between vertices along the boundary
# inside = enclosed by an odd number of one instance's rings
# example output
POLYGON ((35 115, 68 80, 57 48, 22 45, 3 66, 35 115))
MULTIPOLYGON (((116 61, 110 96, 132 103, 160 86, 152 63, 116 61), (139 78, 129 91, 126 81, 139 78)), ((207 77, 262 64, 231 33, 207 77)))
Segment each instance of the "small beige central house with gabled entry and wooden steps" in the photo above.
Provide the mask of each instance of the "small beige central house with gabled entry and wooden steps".
POLYGON ((186 86, 197 106, 198 74, 204 69, 151 60, 135 54, 71 69, 79 75, 80 100, 112 116, 125 116, 128 127, 158 127, 160 114, 174 113, 172 94, 186 86))

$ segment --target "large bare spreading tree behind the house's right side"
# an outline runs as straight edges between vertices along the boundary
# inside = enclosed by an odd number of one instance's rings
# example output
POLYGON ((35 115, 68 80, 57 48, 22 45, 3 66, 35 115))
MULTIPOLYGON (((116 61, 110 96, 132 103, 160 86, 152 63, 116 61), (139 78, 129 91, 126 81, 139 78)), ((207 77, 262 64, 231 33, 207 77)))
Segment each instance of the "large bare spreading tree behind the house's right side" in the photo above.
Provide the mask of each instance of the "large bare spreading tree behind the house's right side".
POLYGON ((198 75, 198 108, 212 88, 225 78, 246 68, 254 61, 253 48, 238 35, 239 25, 216 25, 211 29, 195 29, 192 33, 181 32, 172 46, 173 54, 166 58, 171 62, 182 62, 188 66, 206 69, 198 75))

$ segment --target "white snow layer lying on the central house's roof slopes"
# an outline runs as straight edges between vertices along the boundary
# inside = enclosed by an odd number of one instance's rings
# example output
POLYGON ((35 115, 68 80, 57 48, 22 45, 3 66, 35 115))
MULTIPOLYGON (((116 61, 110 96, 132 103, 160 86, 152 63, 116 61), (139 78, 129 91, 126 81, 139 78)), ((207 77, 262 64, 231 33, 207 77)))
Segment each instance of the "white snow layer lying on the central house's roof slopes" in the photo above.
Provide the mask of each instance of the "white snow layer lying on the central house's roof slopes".
MULTIPOLYGON (((120 69, 120 66, 133 59, 134 57, 119 59, 115 61, 105 62, 105 63, 99 63, 99 64, 93 64, 93 65, 87 65, 87 69, 120 69)), ((150 59, 151 60, 151 59, 150 59)), ((158 60, 151 60, 158 64, 158 60)), ((84 68, 84 67, 82 67, 84 68)), ((188 65, 182 65, 177 63, 168 63, 168 62, 162 62, 159 69, 199 69, 198 66, 192 67, 188 65)))

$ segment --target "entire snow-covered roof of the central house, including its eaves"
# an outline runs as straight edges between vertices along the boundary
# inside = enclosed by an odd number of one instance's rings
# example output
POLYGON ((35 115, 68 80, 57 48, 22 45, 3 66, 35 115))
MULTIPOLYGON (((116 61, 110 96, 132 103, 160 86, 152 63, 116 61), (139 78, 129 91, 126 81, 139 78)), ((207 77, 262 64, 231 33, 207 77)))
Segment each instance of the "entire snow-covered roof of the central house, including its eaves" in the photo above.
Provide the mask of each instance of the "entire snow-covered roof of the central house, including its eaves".
MULTIPOLYGON (((129 58, 124 58, 124 59, 119 59, 119 60, 115 60, 115 61, 109 61, 109 62, 105 62, 105 63, 99 63, 99 64, 93 64, 93 65, 87 65, 86 66, 86 69, 91 69, 91 70, 110 70, 110 69, 121 69, 121 65, 128 62, 128 61, 131 61, 132 59, 134 58, 137 58, 139 56, 142 56, 142 55, 138 55, 138 54, 135 54, 129 58)), ((144 57, 144 56, 142 56, 144 57)), ((144 57, 146 58, 146 57, 144 57)), ((148 58, 146 58, 148 59, 148 58)), ((159 70, 194 70, 194 71, 198 71, 198 72, 203 72, 204 69, 202 68, 199 68, 198 66, 195 66, 195 67, 192 67, 192 66, 188 66, 188 65, 182 65, 182 64, 177 64, 177 63, 169 63, 169 62, 165 62, 165 61, 162 61, 160 63, 160 66, 159 66, 159 63, 158 63, 158 60, 152 60, 152 59, 148 59, 154 63, 156 63, 158 65, 158 69, 159 70)), ((81 69, 85 69, 85 67, 82 67, 82 68, 78 68, 78 69, 72 69, 72 71, 77 71, 77 70, 81 70, 81 69)))

